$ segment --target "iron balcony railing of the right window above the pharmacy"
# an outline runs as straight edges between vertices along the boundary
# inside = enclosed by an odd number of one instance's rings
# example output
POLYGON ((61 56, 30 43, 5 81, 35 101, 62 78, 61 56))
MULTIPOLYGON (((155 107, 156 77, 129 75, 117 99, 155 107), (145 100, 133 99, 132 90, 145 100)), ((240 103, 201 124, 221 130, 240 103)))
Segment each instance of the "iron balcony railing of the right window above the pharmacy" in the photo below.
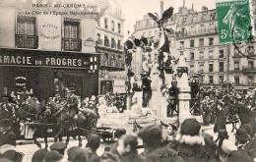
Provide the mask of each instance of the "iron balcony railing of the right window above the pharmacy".
POLYGON ((81 51, 82 40, 75 38, 62 38, 62 48, 65 51, 81 51))

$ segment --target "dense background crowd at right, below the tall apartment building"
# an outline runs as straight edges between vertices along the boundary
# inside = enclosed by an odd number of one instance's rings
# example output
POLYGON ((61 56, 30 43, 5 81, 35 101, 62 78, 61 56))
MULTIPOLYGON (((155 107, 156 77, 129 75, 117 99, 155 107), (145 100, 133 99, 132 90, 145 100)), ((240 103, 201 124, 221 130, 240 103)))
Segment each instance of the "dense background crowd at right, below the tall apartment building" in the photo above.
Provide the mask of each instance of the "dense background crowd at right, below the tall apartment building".
MULTIPOLYGON (((193 86, 195 87, 195 86, 193 86)), ((228 120, 235 121, 235 103, 245 105, 250 110, 256 108, 256 90, 237 90, 232 83, 223 83, 221 86, 196 86, 191 94, 190 112, 194 115, 202 115, 204 125, 215 122, 218 107, 228 109, 228 120)))

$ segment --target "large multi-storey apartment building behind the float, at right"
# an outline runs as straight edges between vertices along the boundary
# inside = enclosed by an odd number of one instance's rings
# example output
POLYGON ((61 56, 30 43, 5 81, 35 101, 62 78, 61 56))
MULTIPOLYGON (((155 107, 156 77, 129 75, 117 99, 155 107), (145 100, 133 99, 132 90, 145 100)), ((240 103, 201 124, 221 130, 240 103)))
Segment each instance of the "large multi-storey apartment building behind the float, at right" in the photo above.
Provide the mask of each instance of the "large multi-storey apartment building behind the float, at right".
MULTIPOLYGON (((157 25, 144 17, 135 25, 135 36, 158 37, 157 25), (155 36, 155 35, 153 35, 155 36)), ((230 81, 237 87, 247 88, 255 85, 255 59, 243 57, 235 50, 233 44, 219 42, 216 10, 202 7, 202 11, 180 7, 178 12, 165 24, 172 28, 174 35, 169 35, 170 55, 178 58, 186 56, 190 65, 190 77, 200 76, 204 84, 221 84, 230 81)), ((247 52, 255 57, 255 43, 246 44, 247 52)), ((135 60, 139 65, 140 60, 135 60)))

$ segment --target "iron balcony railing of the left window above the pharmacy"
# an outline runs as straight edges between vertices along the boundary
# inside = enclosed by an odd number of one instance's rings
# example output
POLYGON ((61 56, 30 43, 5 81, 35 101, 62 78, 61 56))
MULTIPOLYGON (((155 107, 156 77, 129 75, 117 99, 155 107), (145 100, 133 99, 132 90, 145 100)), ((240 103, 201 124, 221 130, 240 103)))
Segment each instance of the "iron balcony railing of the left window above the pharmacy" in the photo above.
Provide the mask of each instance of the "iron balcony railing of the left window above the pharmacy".
POLYGON ((15 45, 18 48, 36 49, 38 47, 38 36, 15 34, 15 45))

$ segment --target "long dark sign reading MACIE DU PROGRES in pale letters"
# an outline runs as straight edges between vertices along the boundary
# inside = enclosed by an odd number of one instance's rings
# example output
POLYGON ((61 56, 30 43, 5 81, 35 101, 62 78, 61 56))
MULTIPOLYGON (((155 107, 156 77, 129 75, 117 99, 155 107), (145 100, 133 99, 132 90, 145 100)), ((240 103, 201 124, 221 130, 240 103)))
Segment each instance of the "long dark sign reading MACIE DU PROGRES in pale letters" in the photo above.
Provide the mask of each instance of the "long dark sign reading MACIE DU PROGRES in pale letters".
POLYGON ((91 58, 97 57, 93 54, 84 53, 19 51, 0 50, 0 65, 89 69, 91 58))

